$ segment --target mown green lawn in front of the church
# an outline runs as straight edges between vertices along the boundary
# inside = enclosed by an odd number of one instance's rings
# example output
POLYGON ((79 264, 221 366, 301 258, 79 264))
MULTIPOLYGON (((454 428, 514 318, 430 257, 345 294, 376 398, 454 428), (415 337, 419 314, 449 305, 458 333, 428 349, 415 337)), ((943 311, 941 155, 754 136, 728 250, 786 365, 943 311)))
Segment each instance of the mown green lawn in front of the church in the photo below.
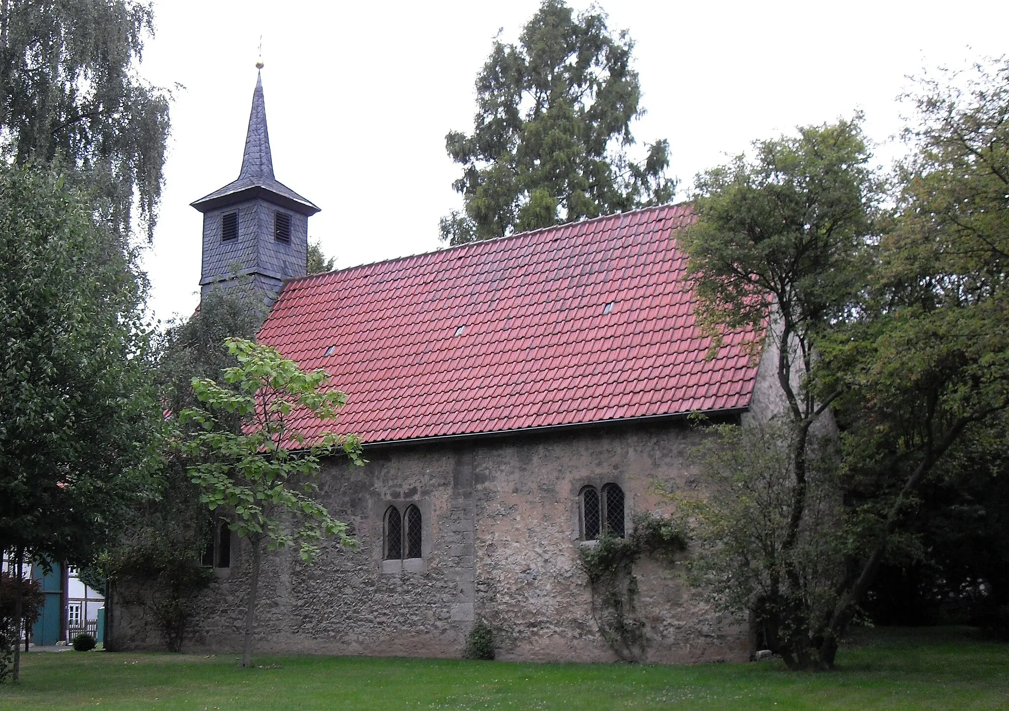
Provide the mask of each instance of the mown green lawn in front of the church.
POLYGON ((780 662, 696 667, 455 660, 38 653, 0 708, 1009 709, 1009 644, 963 628, 875 629, 828 673, 780 662))

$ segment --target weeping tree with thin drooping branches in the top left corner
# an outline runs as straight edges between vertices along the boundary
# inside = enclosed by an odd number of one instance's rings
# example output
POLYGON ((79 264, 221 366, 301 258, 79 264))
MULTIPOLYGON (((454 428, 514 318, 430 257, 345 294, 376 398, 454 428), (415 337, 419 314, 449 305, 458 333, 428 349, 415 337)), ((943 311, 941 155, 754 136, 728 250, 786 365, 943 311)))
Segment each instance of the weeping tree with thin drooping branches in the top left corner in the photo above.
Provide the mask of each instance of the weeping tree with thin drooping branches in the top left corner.
POLYGON ((0 3, 0 150, 86 183, 120 234, 135 201, 148 240, 170 99, 136 72, 152 20, 137 0, 0 3))

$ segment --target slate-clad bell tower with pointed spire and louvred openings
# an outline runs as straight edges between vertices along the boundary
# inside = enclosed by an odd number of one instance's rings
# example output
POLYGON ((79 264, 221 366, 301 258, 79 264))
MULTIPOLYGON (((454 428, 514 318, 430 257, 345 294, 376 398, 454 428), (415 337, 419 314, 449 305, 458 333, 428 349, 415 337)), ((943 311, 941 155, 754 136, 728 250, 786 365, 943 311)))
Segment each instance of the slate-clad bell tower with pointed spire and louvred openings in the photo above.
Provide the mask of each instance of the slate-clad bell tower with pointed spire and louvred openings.
POLYGON ((201 293, 245 276, 275 294, 284 279, 305 275, 309 217, 319 208, 273 177, 260 73, 238 179, 192 206, 203 213, 201 293))

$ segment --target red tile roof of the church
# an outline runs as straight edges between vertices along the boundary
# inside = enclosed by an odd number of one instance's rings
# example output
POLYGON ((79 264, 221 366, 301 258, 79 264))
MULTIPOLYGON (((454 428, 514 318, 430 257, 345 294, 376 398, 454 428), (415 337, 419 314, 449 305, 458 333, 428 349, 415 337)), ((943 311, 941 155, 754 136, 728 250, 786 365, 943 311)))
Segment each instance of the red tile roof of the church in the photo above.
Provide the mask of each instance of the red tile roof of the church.
POLYGON ((326 429, 365 443, 745 407, 742 337, 705 359, 681 280, 692 219, 650 208, 293 279, 259 341, 329 371, 349 400, 326 429))

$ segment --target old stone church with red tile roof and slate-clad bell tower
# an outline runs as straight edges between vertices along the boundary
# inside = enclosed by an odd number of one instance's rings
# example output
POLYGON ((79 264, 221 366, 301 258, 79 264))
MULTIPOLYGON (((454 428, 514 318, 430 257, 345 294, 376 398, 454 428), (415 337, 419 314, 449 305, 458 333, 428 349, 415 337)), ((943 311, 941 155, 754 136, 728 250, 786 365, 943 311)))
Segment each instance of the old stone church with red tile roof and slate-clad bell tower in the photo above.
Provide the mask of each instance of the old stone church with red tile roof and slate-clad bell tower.
MULTIPOLYGON (((273 176, 257 81, 238 179, 193 207, 204 292, 238 265, 275 293, 259 341, 331 374, 349 399, 326 429, 359 435, 368 460, 327 462, 318 481, 357 550, 265 556, 256 651, 459 657, 482 621, 504 660, 749 657, 747 621, 668 555, 634 563, 615 612, 580 563, 600 536, 669 513, 657 487, 693 485, 688 414, 771 407, 767 359, 738 336, 708 357, 676 241, 689 206, 306 276, 319 208, 273 176)), ((215 544, 184 649, 241 648, 247 544, 227 525, 215 544)), ((114 619, 117 647, 158 646, 140 610, 114 619)))

